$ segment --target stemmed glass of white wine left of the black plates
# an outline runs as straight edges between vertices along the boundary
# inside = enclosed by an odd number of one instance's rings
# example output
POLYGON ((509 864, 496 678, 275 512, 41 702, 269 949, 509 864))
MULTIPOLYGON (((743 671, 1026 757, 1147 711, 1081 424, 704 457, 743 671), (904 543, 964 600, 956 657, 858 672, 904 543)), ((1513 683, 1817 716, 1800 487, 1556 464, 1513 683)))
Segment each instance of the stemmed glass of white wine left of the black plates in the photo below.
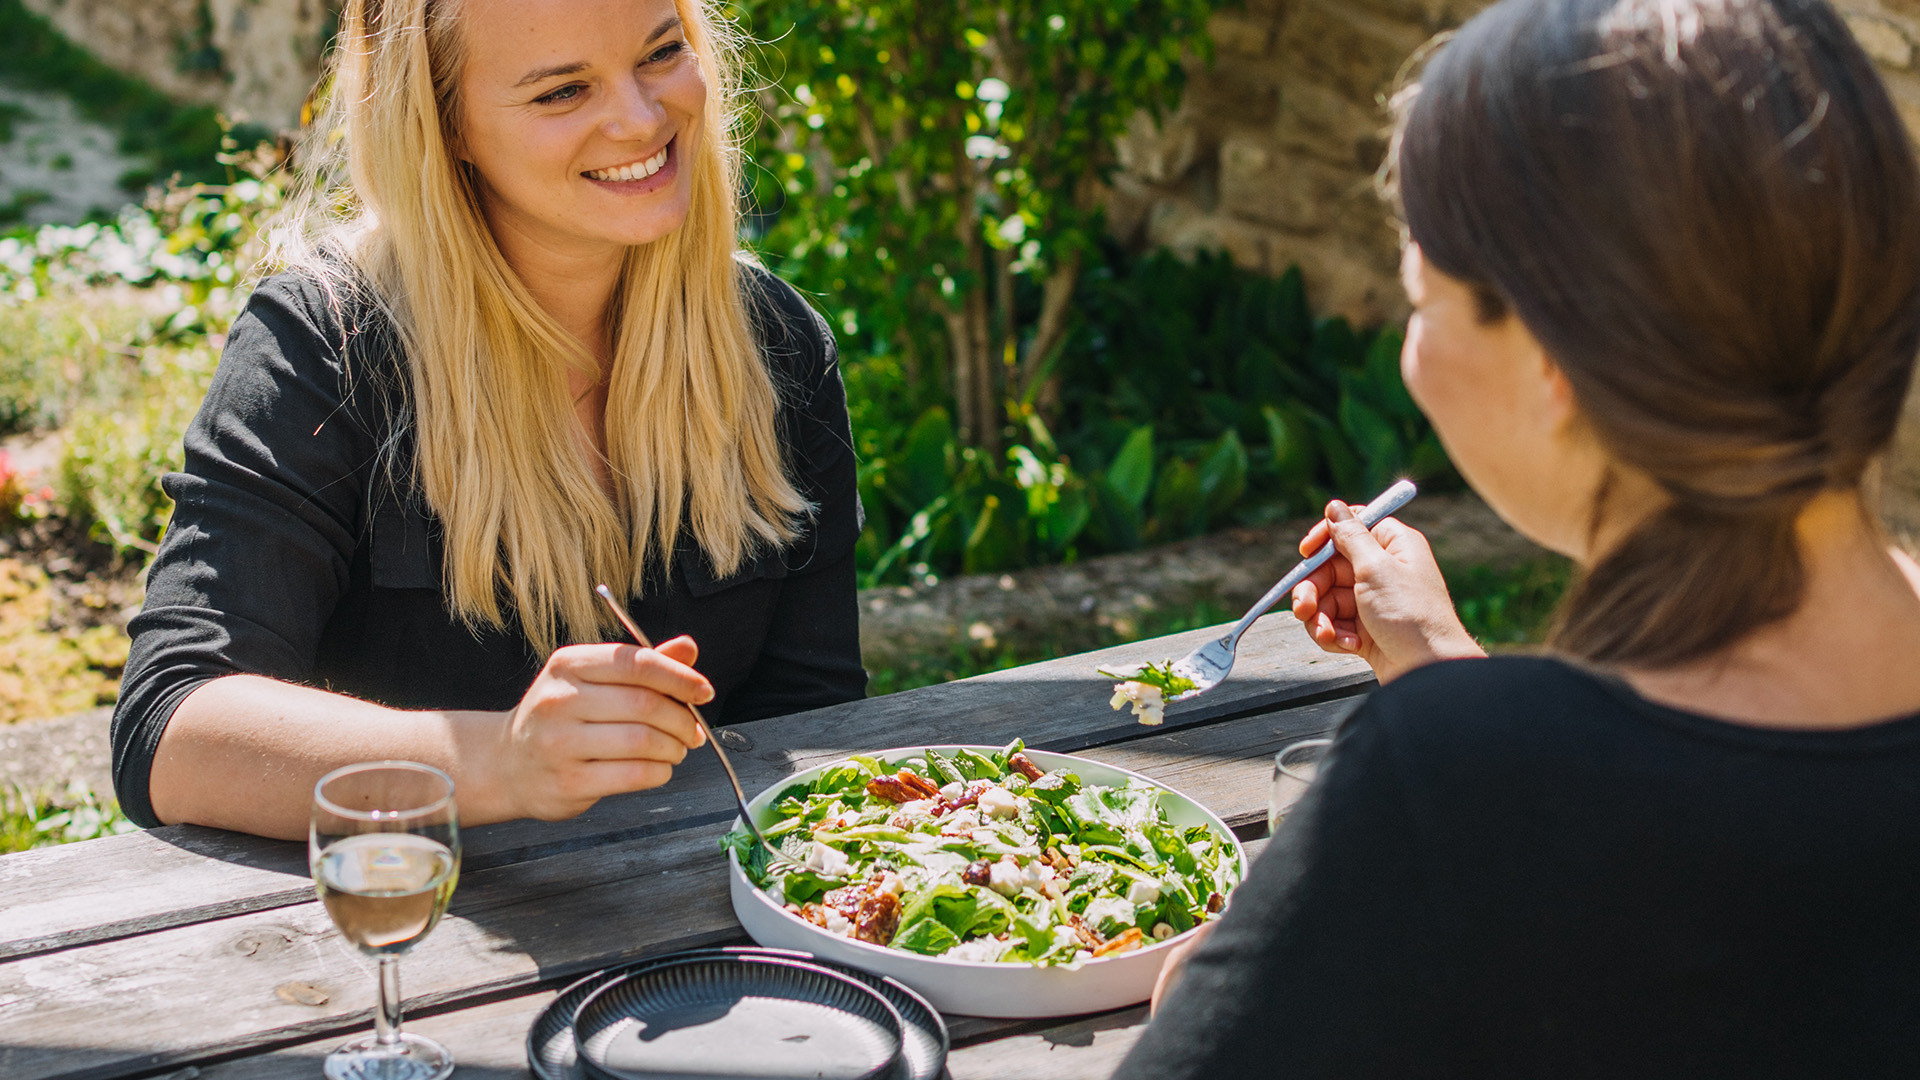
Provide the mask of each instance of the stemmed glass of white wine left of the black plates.
POLYGON ((374 1030, 326 1055, 328 1080, 445 1080, 447 1047, 399 1030, 399 955, 440 922, 461 876, 453 780, 413 761, 334 769, 313 786, 307 859, 340 936, 380 963, 374 1030))

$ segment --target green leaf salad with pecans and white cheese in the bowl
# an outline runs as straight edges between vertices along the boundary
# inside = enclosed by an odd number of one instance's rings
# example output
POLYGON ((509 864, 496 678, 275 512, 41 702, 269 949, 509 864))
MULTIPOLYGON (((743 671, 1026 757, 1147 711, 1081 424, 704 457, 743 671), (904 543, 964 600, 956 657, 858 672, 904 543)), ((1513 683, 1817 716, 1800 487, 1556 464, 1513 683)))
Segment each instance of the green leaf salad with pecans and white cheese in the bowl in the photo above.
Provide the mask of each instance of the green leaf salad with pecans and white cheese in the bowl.
POLYGON ((1043 771, 1020 740, 981 753, 854 755, 774 799, 768 842, 730 847, 791 915, 876 945, 1077 965, 1206 922, 1240 880, 1227 836, 1181 828, 1162 788, 1043 771))

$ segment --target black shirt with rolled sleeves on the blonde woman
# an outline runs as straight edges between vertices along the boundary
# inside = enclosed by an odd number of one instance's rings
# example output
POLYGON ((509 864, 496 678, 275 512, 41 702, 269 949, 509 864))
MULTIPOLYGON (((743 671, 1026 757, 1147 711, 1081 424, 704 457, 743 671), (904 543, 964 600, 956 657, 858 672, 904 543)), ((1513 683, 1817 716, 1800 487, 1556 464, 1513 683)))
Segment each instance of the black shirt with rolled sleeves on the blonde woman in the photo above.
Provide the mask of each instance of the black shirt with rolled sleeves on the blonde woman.
MULTIPOLYGON (((789 284, 741 273, 789 471, 818 513, 785 550, 726 578, 682 542, 664 580, 630 605, 653 640, 699 642, 718 723, 866 692, 860 498, 833 334, 789 284)), ((250 673, 405 709, 507 709, 540 673, 516 626, 474 632, 444 601, 440 527, 396 419, 399 350, 365 307, 301 275, 261 282, 186 430, 186 469, 163 480, 177 505, 129 625, 113 711, 113 786, 140 824, 156 824, 159 734, 207 680, 250 673)))

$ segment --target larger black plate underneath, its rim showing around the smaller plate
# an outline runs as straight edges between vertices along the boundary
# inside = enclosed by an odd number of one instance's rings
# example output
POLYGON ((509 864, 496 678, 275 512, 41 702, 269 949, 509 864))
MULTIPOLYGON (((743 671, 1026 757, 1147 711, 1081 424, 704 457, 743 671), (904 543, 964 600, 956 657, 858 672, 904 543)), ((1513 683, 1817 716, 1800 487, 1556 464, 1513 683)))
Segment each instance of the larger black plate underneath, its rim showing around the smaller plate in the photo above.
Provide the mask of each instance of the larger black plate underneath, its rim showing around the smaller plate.
POLYGON ((900 1040, 900 1057, 906 1059, 906 1072, 902 1074, 904 1080, 939 1080, 939 1076, 945 1074, 948 1049, 947 1020, 941 1019, 933 1005, 927 1005, 925 997, 912 992, 902 982, 883 974, 872 974, 833 961, 824 961, 812 953, 799 953, 793 949, 762 949, 758 945, 687 949, 682 953, 647 957, 643 961, 597 970, 572 982, 566 990, 561 990, 559 997, 541 1009, 540 1017, 534 1019, 534 1026, 526 1032, 528 1068, 532 1068, 538 1080, 586 1080, 586 1070, 580 1068, 580 1055, 574 1049, 574 1013, 580 1009, 582 1001, 622 974, 643 970, 660 963, 714 955, 781 957, 858 978, 879 992, 879 995, 885 997, 906 1022, 904 1038, 900 1040))

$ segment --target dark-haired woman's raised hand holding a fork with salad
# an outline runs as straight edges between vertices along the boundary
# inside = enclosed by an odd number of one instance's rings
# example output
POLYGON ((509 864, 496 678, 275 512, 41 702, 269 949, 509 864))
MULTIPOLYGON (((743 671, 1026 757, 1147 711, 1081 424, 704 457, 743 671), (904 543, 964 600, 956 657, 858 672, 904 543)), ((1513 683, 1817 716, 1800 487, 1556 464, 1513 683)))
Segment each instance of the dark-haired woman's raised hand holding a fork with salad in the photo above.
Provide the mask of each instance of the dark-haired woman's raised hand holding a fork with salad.
POLYGON ((1317 552, 1329 536, 1334 557, 1294 586, 1294 619, 1319 648, 1357 655, 1380 682, 1436 659, 1486 655, 1459 623, 1417 528, 1388 517, 1369 530, 1334 500, 1300 540, 1300 553, 1317 552))

